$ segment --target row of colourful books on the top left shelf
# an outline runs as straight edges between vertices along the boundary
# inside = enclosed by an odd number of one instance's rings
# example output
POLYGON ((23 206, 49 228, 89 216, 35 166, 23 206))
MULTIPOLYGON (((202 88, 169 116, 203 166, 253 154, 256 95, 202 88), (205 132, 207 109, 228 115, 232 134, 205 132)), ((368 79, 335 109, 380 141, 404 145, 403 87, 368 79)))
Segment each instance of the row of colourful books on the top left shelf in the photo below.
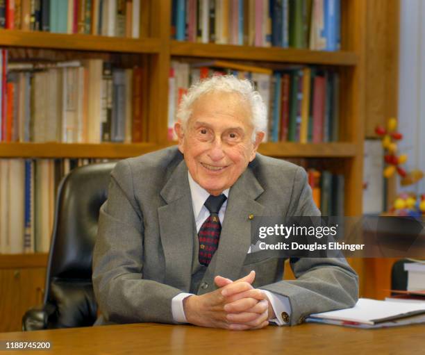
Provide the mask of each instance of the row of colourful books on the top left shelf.
POLYGON ((140 37, 140 0, 0 0, 0 28, 140 37))

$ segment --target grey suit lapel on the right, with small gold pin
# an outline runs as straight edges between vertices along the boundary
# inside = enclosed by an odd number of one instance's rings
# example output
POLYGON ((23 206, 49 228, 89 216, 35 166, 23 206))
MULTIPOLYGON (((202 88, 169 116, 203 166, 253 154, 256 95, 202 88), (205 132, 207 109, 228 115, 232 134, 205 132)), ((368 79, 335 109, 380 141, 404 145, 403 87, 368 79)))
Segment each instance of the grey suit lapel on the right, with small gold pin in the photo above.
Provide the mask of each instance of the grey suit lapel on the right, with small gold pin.
MULTIPOLYGON (((251 169, 245 170, 228 195, 220 242, 203 281, 213 283, 216 275, 235 281, 251 246, 249 215, 263 215, 264 206, 256 199, 264 192, 251 169)), ((210 291, 210 290, 208 290, 210 291)), ((205 293, 201 288, 199 294, 205 293)))

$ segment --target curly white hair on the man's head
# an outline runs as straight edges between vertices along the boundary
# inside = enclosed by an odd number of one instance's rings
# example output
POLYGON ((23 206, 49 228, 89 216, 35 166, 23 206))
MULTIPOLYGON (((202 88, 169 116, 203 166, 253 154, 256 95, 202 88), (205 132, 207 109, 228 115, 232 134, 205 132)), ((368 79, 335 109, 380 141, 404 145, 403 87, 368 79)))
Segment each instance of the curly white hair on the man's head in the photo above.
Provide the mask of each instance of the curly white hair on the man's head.
POLYGON ((203 94, 210 92, 235 92, 251 106, 251 123, 253 124, 252 140, 256 140, 258 132, 267 129, 267 108, 260 93, 253 83, 247 79, 238 79, 233 75, 214 75, 198 81, 190 87, 178 106, 177 118, 185 127, 192 115, 192 105, 203 94))

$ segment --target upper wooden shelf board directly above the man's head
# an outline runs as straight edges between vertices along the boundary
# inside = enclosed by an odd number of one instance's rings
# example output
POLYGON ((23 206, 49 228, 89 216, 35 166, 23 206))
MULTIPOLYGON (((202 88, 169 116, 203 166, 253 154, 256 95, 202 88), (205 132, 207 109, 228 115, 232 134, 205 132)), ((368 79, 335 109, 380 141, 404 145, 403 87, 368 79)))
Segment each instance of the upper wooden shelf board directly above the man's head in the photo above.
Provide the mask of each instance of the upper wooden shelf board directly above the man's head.
POLYGON ((358 64, 358 56, 351 51, 310 51, 308 49, 282 49, 276 47, 250 47, 228 44, 205 44, 173 40, 172 56, 223 58, 232 60, 258 60, 262 62, 301 63, 322 65, 358 64))

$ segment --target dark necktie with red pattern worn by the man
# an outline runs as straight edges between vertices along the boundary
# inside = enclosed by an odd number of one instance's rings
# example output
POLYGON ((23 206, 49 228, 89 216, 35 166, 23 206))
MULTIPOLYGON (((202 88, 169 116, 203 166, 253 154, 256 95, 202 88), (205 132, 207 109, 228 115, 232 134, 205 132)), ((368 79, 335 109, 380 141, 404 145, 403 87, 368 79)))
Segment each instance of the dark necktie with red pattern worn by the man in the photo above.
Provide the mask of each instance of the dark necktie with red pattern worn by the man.
POLYGON ((208 266, 217 250, 220 232, 222 231, 222 224, 220 224, 218 213, 226 199, 227 197, 224 195, 210 195, 205 201, 205 204, 203 204, 210 211, 210 217, 203 222, 198 233, 199 263, 202 265, 208 266))

